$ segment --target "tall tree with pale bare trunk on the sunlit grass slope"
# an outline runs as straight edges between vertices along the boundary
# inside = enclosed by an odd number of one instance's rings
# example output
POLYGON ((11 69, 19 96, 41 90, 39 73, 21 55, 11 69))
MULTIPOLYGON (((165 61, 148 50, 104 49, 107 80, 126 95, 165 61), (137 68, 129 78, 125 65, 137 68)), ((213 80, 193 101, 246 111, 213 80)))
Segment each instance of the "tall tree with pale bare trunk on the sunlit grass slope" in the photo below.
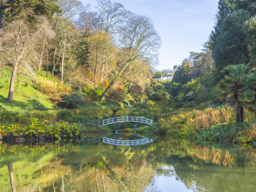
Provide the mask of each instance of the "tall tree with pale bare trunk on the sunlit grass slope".
MULTIPOLYGON (((51 18, 54 12, 60 12, 59 7, 55 4, 55 0, 49 1, 18 1, 18 0, 7 0, 1 1, 4 3, 5 8, 8 9, 1 10, 4 13, 4 18, 6 22, 10 23, 10 29, 12 28, 13 33, 9 33, 8 42, 13 41, 12 44, 15 45, 13 51, 15 55, 13 58, 13 71, 10 81, 10 90, 7 100, 13 102, 13 91, 14 91, 14 82, 15 76, 17 74, 18 65, 20 60, 26 52, 28 47, 28 42, 36 32, 44 29, 44 25, 39 26, 40 18, 38 15, 46 15, 48 18, 51 18)), ((8 31, 10 32, 10 31, 8 31)))

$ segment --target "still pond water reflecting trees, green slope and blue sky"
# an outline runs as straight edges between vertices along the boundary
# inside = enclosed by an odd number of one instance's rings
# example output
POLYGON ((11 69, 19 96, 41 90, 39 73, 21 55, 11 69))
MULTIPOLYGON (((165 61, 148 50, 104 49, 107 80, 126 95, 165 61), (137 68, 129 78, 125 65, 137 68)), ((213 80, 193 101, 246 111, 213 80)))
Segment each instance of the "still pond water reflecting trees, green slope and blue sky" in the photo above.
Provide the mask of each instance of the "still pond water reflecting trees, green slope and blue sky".
POLYGON ((256 191, 253 148, 165 138, 115 146, 88 136, 79 145, 1 143, 0 152, 0 191, 256 191))

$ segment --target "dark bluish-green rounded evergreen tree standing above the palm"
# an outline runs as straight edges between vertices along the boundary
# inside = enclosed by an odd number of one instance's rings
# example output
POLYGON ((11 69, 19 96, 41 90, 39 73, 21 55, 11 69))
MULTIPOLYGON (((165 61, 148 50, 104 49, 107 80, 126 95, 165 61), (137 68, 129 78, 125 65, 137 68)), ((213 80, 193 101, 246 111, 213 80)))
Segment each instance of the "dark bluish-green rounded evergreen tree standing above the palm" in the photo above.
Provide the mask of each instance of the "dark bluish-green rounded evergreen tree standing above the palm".
POLYGON ((250 19, 246 10, 230 13, 212 35, 212 54, 216 68, 220 71, 230 64, 249 63, 250 48, 244 30, 244 22, 250 19))

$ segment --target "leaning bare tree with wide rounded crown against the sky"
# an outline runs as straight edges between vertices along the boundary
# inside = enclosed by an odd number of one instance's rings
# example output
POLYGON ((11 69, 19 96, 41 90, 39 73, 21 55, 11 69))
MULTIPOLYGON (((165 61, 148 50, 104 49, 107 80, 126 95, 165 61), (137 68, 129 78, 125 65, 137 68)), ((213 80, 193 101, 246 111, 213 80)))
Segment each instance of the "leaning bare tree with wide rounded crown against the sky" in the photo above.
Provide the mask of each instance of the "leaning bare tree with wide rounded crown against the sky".
POLYGON ((127 68, 136 65, 137 60, 144 60, 149 64, 157 61, 157 49, 161 44, 161 38, 154 30, 152 21, 147 17, 131 15, 118 34, 122 52, 120 70, 113 76, 111 83, 100 97, 100 103, 104 100, 106 93, 115 84, 127 68))

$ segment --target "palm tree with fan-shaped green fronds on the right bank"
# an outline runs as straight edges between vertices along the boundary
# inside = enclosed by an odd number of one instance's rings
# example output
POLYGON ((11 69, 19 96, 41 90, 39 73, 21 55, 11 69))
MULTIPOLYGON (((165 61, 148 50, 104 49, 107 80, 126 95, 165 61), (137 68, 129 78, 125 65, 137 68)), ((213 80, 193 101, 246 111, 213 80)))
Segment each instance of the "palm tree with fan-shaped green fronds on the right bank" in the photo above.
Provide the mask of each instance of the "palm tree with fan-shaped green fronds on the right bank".
POLYGON ((256 73, 249 65, 228 65, 221 71, 224 79, 217 84, 222 99, 227 97, 234 105, 237 124, 244 121, 244 107, 255 105, 256 73))

